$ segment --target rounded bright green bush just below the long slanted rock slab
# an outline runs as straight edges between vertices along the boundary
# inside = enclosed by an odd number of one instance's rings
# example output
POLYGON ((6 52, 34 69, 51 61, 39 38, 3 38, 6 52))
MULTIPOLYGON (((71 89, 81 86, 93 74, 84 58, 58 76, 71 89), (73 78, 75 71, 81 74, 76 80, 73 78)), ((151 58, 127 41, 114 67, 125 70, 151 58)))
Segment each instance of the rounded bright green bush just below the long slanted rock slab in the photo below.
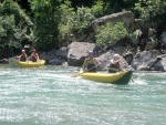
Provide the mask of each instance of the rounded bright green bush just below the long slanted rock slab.
POLYGON ((97 45, 114 44, 116 41, 128 34, 123 22, 112 24, 111 22, 101 25, 98 33, 95 35, 97 45))

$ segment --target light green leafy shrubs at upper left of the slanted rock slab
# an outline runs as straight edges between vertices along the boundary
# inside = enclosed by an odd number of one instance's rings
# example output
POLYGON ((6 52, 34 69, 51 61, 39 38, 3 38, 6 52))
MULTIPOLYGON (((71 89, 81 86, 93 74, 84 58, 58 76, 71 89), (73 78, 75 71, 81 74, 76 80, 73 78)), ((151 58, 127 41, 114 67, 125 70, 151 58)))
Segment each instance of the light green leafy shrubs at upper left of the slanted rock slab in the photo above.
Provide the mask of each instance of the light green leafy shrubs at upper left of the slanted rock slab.
POLYGON ((104 2, 97 0, 92 8, 77 7, 76 11, 71 6, 71 2, 66 0, 60 6, 61 19, 59 22, 60 39, 63 40, 69 34, 81 34, 86 32, 91 27, 91 22, 104 14, 104 2))

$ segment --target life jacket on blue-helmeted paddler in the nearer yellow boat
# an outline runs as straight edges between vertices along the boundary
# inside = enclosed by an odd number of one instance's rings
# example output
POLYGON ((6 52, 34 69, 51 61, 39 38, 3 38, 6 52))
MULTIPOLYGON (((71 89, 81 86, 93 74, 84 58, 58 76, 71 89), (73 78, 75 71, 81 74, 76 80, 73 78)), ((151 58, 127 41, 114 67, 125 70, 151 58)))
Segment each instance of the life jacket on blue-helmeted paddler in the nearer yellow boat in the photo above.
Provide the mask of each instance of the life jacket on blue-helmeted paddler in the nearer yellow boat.
POLYGON ((86 58, 87 72, 96 72, 94 59, 86 58))

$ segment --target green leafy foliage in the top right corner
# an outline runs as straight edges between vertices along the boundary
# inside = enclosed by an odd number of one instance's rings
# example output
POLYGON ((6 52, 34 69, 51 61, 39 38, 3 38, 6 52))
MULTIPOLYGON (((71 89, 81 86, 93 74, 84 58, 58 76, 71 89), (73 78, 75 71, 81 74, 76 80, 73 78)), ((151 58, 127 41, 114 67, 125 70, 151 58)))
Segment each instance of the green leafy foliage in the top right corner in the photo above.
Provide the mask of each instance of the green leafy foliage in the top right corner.
POLYGON ((166 18, 166 1, 163 0, 139 0, 135 3, 135 10, 141 13, 141 18, 145 22, 165 23, 166 18), (160 19, 158 19, 160 18, 160 19))

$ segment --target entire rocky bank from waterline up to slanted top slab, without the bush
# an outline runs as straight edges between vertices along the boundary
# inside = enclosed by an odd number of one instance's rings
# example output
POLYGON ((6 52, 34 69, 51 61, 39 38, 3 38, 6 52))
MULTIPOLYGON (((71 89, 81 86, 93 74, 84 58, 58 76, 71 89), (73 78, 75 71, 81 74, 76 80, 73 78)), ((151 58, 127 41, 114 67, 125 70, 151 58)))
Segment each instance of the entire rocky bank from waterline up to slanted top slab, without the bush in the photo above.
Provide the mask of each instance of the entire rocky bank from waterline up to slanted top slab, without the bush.
MULTIPOLYGON (((114 53, 121 55, 121 62, 125 69, 135 71, 166 71, 166 31, 158 33, 156 25, 143 25, 141 19, 135 19, 131 11, 105 15, 92 21, 90 32, 75 37, 69 35, 70 44, 59 50, 41 52, 40 59, 46 60, 49 65, 82 66, 90 50, 94 51, 95 58, 102 63, 98 70, 107 69, 114 53), (97 46, 95 33, 98 27, 106 22, 123 22, 134 34, 117 41, 115 44, 97 46)), ((4 61, 4 60, 3 60, 4 61)), ((6 62, 6 61, 4 61, 6 62)))

